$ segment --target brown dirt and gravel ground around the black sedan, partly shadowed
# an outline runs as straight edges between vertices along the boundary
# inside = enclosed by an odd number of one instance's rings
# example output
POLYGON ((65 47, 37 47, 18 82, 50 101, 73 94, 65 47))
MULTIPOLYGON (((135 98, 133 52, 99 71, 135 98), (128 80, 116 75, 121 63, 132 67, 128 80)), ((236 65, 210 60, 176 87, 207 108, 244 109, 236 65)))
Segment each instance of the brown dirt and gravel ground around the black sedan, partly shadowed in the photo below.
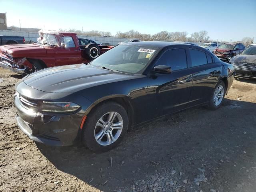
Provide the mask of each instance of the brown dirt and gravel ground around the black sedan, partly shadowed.
POLYGON ((256 80, 234 80, 219 110, 169 116, 96 154, 37 144, 20 131, 13 105, 20 78, 0 68, 1 192, 256 191, 256 80))

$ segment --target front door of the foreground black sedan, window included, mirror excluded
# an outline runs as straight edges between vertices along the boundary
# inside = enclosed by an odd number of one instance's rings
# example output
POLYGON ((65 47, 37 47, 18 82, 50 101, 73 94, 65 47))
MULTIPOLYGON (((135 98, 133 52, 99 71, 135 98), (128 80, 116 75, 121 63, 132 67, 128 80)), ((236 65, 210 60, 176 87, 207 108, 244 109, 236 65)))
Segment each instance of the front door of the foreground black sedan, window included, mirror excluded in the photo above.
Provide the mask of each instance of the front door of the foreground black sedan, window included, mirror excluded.
POLYGON ((157 65, 168 65, 172 72, 153 73, 148 78, 148 97, 152 101, 150 106, 153 114, 160 116, 186 108, 192 88, 192 73, 188 69, 186 48, 165 51, 154 66, 157 65))

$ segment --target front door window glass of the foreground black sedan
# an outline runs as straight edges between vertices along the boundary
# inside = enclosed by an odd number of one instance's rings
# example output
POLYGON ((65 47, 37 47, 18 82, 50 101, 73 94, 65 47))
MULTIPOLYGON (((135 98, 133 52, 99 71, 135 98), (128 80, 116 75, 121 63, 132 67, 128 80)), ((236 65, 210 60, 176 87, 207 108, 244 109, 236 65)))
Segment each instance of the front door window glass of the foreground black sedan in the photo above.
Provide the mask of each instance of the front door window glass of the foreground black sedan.
POLYGON ((186 69, 187 58, 185 49, 172 49, 166 51, 158 60, 157 65, 168 65, 172 71, 186 69))

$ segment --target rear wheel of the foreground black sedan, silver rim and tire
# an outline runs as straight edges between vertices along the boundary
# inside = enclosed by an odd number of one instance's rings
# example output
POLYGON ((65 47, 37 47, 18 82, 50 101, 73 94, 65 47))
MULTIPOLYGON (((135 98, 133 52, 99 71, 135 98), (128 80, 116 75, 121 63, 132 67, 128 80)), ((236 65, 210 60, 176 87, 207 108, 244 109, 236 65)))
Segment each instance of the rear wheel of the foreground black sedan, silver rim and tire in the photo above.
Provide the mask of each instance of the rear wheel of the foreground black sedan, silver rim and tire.
POLYGON ((218 82, 214 91, 211 94, 208 108, 212 110, 218 109, 222 105, 225 94, 226 86, 225 83, 221 80, 220 82, 218 82))

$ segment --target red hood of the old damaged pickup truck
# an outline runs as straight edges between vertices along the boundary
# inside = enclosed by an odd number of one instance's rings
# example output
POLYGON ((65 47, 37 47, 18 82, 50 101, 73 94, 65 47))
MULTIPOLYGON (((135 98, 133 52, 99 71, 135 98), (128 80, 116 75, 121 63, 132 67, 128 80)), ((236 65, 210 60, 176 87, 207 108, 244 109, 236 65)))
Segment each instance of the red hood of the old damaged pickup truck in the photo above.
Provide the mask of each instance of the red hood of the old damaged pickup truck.
POLYGON ((13 58, 46 56, 44 46, 36 44, 4 45, 0 47, 0 51, 11 55, 13 58))

